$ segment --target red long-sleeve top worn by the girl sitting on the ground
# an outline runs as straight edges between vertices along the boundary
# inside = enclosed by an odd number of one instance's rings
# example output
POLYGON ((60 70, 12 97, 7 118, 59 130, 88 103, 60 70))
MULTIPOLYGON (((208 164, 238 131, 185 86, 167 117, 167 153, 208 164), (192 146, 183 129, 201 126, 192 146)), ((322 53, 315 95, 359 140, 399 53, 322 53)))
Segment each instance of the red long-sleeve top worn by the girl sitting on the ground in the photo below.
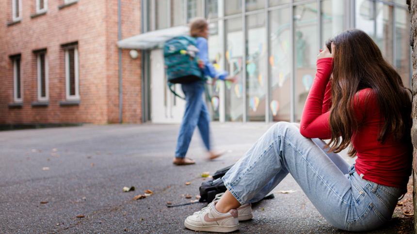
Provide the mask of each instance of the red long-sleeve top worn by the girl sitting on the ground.
MULTIPOLYGON (((300 124, 300 133, 307 138, 330 139, 329 124, 332 92, 330 75, 333 59, 317 61, 316 78, 307 96, 300 124)), ((388 137, 378 141, 378 127, 384 119, 372 89, 360 90, 352 100, 357 123, 361 123, 352 137, 357 151, 355 169, 363 178, 381 185, 406 188, 411 175, 411 142, 403 143, 388 137)))

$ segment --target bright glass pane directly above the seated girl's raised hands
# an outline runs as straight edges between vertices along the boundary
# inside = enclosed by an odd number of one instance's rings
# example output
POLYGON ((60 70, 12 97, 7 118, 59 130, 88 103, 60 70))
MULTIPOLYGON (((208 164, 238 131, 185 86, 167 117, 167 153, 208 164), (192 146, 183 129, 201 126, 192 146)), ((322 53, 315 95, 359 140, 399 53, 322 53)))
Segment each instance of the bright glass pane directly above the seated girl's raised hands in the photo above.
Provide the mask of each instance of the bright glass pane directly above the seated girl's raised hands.
POLYGON ((321 2, 321 38, 323 39, 321 44, 343 31, 344 5, 344 0, 321 2))

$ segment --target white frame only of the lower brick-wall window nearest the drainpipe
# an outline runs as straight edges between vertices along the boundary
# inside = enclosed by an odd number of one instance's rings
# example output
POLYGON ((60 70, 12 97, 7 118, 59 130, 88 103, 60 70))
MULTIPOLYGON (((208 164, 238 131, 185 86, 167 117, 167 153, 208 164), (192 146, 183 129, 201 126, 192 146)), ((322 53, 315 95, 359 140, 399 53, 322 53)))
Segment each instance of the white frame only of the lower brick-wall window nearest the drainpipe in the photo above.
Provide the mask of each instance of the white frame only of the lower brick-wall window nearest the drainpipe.
POLYGON ((80 100, 80 77, 78 70, 78 46, 66 47, 65 49, 65 99, 68 101, 80 100), (68 50, 74 48, 74 76, 75 76, 75 95, 69 93, 69 53, 68 50))

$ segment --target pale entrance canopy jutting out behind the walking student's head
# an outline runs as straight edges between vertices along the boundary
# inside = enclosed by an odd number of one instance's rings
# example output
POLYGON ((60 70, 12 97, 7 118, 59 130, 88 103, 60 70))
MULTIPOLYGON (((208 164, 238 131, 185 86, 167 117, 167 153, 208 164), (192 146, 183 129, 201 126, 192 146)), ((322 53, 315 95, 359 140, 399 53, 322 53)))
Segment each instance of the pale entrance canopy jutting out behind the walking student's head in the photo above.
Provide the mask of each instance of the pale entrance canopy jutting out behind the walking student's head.
POLYGON ((117 46, 123 49, 150 49, 157 47, 176 36, 188 34, 189 31, 190 28, 188 26, 178 26, 158 31, 145 32, 118 41, 117 46))

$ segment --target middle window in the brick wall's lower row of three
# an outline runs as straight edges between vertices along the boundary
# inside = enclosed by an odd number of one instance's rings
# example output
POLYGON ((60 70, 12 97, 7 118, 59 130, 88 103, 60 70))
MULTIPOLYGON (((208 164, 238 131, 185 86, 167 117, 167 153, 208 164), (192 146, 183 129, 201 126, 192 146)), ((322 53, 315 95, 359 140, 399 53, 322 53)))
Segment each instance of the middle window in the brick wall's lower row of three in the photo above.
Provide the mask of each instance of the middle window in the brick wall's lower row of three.
POLYGON ((48 80, 48 59, 46 52, 36 55, 37 77, 38 77, 38 101, 48 101, 49 80, 48 80))

